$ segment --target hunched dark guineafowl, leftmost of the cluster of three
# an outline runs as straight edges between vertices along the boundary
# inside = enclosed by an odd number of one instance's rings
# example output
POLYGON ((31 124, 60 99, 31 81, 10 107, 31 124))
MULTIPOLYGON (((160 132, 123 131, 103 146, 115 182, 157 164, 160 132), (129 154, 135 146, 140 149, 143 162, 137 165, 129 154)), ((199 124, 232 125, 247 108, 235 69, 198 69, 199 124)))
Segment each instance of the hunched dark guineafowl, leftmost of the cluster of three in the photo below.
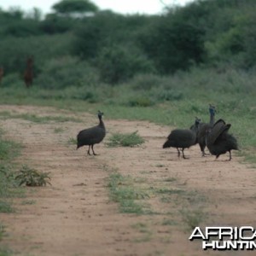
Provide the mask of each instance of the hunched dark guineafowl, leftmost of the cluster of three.
POLYGON ((183 159, 186 159, 183 152, 184 148, 189 148, 196 144, 196 133, 199 123, 199 119, 195 119, 195 125, 192 125, 190 129, 175 129, 171 131, 163 148, 177 148, 178 157, 180 156, 179 148, 181 148, 183 159))

